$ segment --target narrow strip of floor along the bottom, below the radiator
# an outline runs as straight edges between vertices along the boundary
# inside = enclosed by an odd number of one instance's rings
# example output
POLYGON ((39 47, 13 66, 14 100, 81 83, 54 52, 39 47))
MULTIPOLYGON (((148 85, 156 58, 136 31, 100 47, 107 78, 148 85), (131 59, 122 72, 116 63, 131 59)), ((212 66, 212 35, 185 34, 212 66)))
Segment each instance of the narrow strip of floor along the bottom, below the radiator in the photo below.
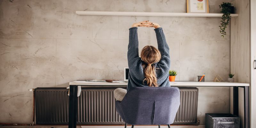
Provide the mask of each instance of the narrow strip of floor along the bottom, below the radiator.
MULTIPOLYGON (((131 128, 131 125, 127 125, 127 128, 131 128)), ((34 125, 34 126, 1 126, 1 128, 68 128, 67 125, 34 125)), ((77 126, 76 128, 124 128, 124 126, 77 126)), ((158 128, 157 125, 148 126, 148 125, 138 125, 134 128, 158 128)), ((167 125, 161 125, 161 128, 168 128, 167 125)), ((171 126, 171 128, 205 128, 205 125, 191 126, 191 125, 181 125, 181 126, 171 126)))

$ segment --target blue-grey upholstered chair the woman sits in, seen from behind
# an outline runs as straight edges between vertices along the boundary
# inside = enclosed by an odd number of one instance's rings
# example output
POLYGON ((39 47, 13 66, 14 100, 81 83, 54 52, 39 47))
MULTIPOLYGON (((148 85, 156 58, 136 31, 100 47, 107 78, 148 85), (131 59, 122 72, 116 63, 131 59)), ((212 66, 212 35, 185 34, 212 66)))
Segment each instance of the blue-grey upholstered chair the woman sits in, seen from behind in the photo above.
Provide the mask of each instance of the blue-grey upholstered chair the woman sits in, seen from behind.
POLYGON ((122 102, 116 101, 116 111, 127 124, 172 124, 180 106, 177 87, 134 87, 122 102))

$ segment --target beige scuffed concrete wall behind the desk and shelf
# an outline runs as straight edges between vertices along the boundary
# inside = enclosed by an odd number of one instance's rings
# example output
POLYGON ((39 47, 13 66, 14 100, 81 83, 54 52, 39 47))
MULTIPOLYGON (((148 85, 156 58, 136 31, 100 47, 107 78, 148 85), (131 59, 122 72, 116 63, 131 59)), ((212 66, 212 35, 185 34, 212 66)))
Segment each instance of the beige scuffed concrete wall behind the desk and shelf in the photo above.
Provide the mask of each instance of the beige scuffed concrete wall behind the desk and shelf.
MULTIPOLYGON (((210 0, 210 13, 222 2, 210 0)), ((0 1, 0 122, 31 123, 36 87, 67 87, 84 79, 123 80, 128 29, 150 20, 161 25, 177 81, 205 81, 230 72, 230 31, 220 18, 81 16, 75 11, 186 12, 186 0, 2 0, 0 1)), ((156 45, 153 28, 139 28, 139 47, 156 45)), ((228 113, 228 87, 200 87, 198 119, 228 113)))

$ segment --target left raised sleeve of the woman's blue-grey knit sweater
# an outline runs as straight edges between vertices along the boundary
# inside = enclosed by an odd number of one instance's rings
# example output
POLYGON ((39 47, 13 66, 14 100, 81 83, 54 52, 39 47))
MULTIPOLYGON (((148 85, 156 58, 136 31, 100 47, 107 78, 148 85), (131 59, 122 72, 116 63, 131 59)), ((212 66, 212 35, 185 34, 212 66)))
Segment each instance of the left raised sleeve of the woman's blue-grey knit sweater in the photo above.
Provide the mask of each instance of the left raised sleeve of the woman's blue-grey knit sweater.
POLYGON ((129 28, 129 44, 127 52, 127 60, 129 67, 130 80, 141 83, 144 79, 143 68, 141 66, 141 58, 139 57, 139 41, 137 27, 129 28))

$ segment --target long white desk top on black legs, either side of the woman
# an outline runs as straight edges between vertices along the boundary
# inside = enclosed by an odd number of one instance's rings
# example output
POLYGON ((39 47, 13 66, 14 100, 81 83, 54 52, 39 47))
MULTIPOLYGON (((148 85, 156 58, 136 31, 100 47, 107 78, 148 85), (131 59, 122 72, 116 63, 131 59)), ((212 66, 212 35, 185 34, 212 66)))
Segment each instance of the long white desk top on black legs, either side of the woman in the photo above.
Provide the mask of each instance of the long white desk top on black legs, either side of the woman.
MULTIPOLYGON (((87 82, 87 81, 72 81, 69 85, 109 85, 109 86, 127 86, 127 82, 109 83, 109 82, 87 82)), ((247 83, 238 82, 197 82, 197 81, 175 81, 170 82, 171 86, 250 86, 247 83)))

